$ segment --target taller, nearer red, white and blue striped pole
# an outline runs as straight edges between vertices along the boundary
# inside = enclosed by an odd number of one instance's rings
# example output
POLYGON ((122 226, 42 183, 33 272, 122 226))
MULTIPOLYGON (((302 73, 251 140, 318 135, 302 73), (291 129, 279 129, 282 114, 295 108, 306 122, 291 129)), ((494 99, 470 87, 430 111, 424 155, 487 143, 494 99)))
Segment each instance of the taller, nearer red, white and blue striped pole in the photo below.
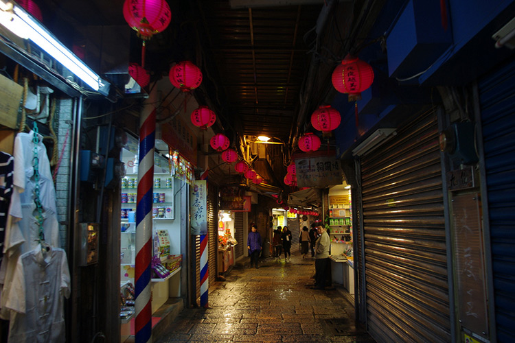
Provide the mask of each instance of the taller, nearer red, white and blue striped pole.
POLYGON ((157 93, 151 87, 139 118, 139 163, 136 205, 135 342, 152 342, 150 260, 152 259, 152 199, 157 93))

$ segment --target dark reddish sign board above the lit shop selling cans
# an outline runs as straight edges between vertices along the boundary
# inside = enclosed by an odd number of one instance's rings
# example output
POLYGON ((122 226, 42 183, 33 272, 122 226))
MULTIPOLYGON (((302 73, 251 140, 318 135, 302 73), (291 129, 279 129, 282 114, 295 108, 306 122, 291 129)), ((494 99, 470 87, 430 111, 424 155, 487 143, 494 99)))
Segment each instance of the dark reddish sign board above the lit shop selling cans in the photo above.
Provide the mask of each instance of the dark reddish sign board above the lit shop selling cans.
POLYGON ((168 123, 161 124, 161 139, 196 166, 196 136, 183 119, 175 117, 168 123))

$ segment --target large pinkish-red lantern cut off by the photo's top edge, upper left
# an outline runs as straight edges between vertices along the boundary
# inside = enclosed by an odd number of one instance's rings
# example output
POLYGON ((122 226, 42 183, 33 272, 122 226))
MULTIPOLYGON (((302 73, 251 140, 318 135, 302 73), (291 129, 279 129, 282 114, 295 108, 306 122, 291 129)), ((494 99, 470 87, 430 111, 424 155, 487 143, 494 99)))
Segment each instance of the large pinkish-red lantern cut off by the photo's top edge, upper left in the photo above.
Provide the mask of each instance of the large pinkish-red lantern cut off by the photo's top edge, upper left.
POLYGON ((168 27, 172 12, 165 0, 125 0, 124 18, 141 39, 148 40, 168 27))

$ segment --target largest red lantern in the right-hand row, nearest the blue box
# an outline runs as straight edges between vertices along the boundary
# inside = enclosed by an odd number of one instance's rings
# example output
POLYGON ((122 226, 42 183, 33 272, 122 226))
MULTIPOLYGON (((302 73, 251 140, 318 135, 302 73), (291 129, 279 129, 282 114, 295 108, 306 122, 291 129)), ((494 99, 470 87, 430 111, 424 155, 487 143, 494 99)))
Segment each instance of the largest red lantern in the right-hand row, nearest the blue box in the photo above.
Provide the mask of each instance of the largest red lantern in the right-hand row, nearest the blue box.
POLYGON ((340 93, 348 93, 349 101, 361 99, 361 92, 374 82, 374 70, 370 64, 348 54, 332 72, 332 85, 340 93))

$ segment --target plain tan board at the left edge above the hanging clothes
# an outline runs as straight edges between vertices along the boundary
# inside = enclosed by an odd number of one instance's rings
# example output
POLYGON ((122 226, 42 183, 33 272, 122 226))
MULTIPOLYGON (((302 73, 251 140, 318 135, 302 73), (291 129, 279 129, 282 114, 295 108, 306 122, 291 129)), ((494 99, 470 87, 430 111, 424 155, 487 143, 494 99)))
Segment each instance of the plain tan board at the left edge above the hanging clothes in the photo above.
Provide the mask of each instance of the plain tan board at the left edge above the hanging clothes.
POLYGON ((16 128, 22 94, 22 86, 0 74, 0 123, 3 126, 16 128))

